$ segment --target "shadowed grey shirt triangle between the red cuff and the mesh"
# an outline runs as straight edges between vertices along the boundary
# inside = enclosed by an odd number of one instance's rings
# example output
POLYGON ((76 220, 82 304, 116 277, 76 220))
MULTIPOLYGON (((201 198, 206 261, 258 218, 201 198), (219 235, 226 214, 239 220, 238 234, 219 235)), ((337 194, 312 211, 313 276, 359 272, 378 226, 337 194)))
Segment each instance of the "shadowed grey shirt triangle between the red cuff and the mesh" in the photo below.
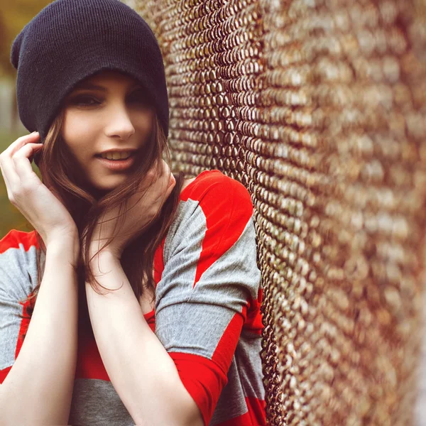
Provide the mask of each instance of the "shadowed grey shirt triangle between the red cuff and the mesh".
POLYGON ((228 371, 228 383, 219 396, 209 426, 217 425, 245 413, 247 413, 247 405, 234 357, 228 371))

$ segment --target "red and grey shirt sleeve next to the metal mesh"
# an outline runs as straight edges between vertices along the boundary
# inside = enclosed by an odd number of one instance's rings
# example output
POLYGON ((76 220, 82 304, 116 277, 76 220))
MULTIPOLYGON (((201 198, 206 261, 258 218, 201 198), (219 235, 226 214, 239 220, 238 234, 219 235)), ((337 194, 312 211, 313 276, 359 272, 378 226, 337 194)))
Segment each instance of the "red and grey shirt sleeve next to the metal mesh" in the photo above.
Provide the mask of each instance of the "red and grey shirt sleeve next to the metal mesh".
POLYGON ((182 200, 165 239, 155 334, 208 425, 256 300, 260 271, 249 192, 225 175, 182 200))

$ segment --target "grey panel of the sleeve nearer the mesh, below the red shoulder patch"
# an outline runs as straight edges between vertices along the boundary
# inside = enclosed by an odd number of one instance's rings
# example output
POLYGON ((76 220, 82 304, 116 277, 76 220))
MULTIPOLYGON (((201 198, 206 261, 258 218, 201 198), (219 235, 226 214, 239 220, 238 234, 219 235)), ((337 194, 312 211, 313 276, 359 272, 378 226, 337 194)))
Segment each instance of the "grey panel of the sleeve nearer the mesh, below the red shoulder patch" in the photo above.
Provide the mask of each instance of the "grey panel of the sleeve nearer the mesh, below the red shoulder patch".
POLYGON ((165 241, 165 268, 156 290, 155 334, 168 351, 211 359, 232 317, 241 312, 249 295, 257 297, 260 271, 254 226, 250 219, 234 246, 193 288, 206 222, 197 202, 184 204, 170 229, 172 236, 165 241))

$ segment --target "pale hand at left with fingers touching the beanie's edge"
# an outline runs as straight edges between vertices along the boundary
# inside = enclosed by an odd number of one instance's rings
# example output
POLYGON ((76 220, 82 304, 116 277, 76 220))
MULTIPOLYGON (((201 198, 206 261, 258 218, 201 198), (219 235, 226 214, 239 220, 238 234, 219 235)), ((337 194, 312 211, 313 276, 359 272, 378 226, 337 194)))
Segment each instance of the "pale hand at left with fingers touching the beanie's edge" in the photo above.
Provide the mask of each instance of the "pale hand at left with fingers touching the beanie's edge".
POLYGON ((35 142, 39 137, 34 132, 16 139, 0 154, 0 168, 9 201, 38 231, 47 247, 51 241, 78 239, 78 231, 70 212, 31 167, 33 155, 43 148, 43 143, 35 142))

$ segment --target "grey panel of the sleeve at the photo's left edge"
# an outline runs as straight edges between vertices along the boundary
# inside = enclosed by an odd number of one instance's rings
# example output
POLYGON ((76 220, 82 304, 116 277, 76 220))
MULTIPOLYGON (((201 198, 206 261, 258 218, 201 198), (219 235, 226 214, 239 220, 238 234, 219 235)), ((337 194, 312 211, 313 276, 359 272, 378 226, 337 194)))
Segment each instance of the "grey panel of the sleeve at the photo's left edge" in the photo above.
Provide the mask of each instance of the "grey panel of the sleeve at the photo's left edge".
POLYGON ((0 370, 15 362, 23 313, 19 301, 25 301, 37 283, 35 256, 35 247, 25 251, 23 244, 0 254, 0 370))

